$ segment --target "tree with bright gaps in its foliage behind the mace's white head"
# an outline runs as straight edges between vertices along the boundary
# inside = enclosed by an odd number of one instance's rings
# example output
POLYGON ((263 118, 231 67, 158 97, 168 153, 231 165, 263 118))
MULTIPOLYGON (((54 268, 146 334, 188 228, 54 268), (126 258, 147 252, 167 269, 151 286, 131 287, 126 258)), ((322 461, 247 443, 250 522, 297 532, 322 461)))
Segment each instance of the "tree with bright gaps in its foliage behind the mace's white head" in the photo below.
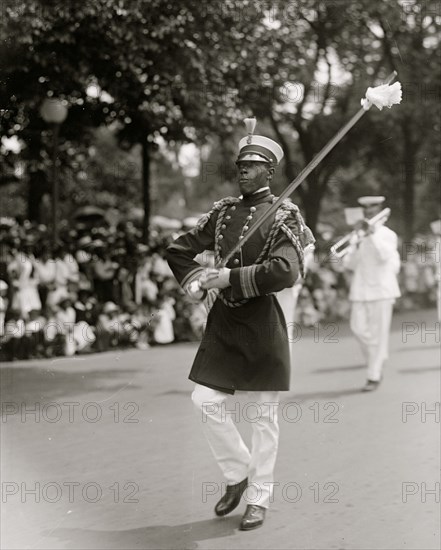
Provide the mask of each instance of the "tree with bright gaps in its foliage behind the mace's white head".
MULTIPOLYGON (((424 21, 418 24, 418 17, 415 21, 409 13, 404 17, 403 9, 398 1, 282 0, 271 6, 254 28, 253 40, 245 44, 252 47, 242 52, 246 63, 231 67, 230 85, 238 90, 242 109, 268 121, 275 139, 283 146, 288 181, 359 109, 366 88, 381 83, 391 70, 398 69, 405 88, 403 105, 392 113, 375 113, 373 108, 298 188, 312 228, 319 219, 324 197, 329 196, 331 183, 335 193, 335 181, 347 174, 352 165, 358 165, 361 170, 355 175, 360 189, 372 186, 374 180, 381 188, 385 179, 392 179, 396 188, 401 184, 401 172, 404 174, 404 227, 407 234, 412 232, 417 152, 423 158, 427 156, 428 142, 437 138, 437 123, 432 118, 437 107, 433 102, 416 105, 409 96, 411 87, 419 90, 432 84, 436 100, 439 86, 436 87, 433 75, 439 75, 435 66, 438 39, 434 14, 424 16, 421 6, 415 3, 413 9, 419 10, 419 21, 424 21), (412 52, 406 70, 403 64, 397 64, 400 54, 394 44, 399 41, 404 51, 412 52), (418 71, 414 72, 416 66, 418 71), (396 166, 394 162, 392 173, 385 178, 381 170, 390 162, 388 140, 392 136, 393 158, 397 158, 399 147, 399 158, 401 162, 406 159, 406 163, 396 166)), ((354 175, 354 170, 350 173, 354 175)), ((341 198, 344 200, 344 195, 341 198)))

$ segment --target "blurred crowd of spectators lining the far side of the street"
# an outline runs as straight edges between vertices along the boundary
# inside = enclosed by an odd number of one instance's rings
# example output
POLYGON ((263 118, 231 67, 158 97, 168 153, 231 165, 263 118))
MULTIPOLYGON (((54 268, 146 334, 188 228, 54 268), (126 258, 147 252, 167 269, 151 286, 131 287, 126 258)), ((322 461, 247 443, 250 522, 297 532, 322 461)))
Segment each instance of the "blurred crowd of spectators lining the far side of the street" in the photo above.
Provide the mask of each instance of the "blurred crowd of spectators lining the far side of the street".
MULTIPOLYGON (((65 226, 53 246, 48 228, 0 219, 1 359, 148 349, 198 340, 206 311, 191 302, 164 259, 176 233, 154 231, 149 245, 131 222, 65 226)), ((398 309, 436 304, 436 254, 424 238, 403 261, 398 309)), ((439 260, 438 260, 439 261, 439 260)), ((347 319, 349 274, 340 261, 310 262, 295 320, 304 326, 347 319)))

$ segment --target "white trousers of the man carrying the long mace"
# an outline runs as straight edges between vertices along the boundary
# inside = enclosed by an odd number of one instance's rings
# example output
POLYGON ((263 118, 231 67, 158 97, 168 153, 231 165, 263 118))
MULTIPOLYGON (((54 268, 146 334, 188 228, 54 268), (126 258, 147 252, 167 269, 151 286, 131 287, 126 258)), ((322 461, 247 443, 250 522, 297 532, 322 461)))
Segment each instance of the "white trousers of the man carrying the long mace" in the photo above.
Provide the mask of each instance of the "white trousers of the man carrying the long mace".
MULTIPOLYGON (((228 404, 228 394, 196 384, 192 400, 211 451, 219 464, 227 485, 248 477, 244 493, 247 504, 268 508, 272 501, 274 465, 279 442, 277 409, 279 392, 246 393, 248 400, 240 406, 228 404), (245 445, 232 417, 252 425, 251 451, 245 445)), ((232 398, 234 396, 230 396, 232 398)))

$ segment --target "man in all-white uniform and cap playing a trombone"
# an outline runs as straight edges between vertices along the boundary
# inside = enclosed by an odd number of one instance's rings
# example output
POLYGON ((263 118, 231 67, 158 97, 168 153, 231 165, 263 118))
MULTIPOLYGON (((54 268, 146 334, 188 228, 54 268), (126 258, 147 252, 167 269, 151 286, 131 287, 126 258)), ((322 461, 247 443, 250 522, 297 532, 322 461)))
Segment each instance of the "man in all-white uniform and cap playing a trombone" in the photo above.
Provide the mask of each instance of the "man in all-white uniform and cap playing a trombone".
POLYGON ((384 200, 381 196, 358 199, 365 220, 357 227, 365 237, 352 243, 344 257, 345 267, 353 271, 349 293, 351 330, 367 363, 363 391, 375 390, 381 382, 383 363, 388 357, 393 304, 400 296, 397 235, 385 225, 367 223, 381 211, 384 200))

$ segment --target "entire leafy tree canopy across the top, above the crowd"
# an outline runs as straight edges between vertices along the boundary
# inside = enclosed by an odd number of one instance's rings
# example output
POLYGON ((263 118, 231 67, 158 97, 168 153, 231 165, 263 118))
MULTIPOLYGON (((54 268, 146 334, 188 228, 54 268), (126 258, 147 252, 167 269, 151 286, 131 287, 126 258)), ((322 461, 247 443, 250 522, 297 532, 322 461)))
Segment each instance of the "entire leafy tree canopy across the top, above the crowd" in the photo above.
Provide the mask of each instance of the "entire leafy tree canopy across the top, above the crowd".
POLYGON ((382 191, 409 237, 424 229, 427 212, 438 214, 430 199, 439 196, 440 15, 429 8, 400 0, 5 0, 0 134, 17 138, 21 151, 3 147, 0 180, 14 182, 20 160, 29 214, 38 217, 51 147, 39 108, 53 96, 69 106, 58 163, 71 188, 96 166, 90 151, 100 126, 128 155, 141 145, 144 170, 132 172, 148 187, 158 144, 217 143, 216 162, 226 165, 250 114, 283 146, 286 185, 359 108, 367 86, 395 69, 402 105, 371 109, 297 199, 314 227, 358 194, 382 191))

